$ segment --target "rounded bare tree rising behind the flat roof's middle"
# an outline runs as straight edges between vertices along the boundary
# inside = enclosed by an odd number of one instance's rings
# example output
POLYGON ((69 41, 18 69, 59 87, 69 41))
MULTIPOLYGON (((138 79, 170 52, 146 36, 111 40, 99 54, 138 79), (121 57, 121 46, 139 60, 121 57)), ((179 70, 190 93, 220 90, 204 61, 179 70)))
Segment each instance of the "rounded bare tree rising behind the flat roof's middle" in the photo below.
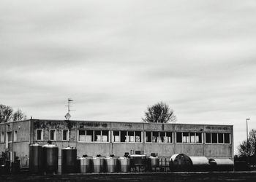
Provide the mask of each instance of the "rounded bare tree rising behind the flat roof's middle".
POLYGON ((145 112, 145 118, 142 118, 143 122, 176 122, 176 116, 173 114, 173 109, 166 103, 156 103, 153 106, 148 106, 145 112))

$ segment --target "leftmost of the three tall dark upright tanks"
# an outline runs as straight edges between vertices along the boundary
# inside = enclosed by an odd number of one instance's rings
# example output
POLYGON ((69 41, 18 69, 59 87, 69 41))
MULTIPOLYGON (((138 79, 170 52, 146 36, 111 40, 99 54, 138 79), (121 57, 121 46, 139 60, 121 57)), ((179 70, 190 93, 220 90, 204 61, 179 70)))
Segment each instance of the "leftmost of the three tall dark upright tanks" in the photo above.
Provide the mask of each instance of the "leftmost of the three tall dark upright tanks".
POLYGON ((29 146, 29 171, 42 173, 42 145, 38 143, 29 146))

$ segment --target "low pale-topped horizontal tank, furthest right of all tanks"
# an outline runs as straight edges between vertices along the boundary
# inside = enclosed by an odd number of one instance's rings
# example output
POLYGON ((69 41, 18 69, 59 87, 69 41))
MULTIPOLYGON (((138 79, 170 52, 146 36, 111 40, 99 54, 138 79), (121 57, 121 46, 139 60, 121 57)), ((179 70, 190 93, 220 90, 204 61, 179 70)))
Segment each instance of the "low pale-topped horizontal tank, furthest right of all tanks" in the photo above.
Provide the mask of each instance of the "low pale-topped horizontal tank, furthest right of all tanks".
POLYGON ((209 163, 211 165, 211 170, 215 170, 215 171, 233 171, 234 170, 234 162, 232 159, 210 158, 209 163))

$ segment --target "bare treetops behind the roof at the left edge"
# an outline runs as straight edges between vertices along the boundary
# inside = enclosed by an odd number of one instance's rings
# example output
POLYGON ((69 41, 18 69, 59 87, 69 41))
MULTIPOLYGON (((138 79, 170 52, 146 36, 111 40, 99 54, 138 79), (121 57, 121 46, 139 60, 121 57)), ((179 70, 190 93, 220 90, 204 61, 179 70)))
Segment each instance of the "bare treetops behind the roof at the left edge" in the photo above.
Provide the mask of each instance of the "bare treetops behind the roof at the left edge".
POLYGON ((13 113, 12 107, 0 104, 0 123, 10 122, 11 120, 17 122, 23 119, 26 119, 26 115, 20 109, 13 113))

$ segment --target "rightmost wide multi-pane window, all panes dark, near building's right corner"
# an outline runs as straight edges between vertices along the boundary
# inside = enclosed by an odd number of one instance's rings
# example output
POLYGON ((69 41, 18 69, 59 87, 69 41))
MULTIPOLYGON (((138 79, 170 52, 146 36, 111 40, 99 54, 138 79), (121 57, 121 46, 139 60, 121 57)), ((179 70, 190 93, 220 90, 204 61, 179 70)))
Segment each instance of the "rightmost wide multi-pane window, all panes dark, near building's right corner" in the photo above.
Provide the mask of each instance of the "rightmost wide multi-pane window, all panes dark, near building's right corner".
POLYGON ((230 133, 206 132, 206 143, 230 143, 230 133))

